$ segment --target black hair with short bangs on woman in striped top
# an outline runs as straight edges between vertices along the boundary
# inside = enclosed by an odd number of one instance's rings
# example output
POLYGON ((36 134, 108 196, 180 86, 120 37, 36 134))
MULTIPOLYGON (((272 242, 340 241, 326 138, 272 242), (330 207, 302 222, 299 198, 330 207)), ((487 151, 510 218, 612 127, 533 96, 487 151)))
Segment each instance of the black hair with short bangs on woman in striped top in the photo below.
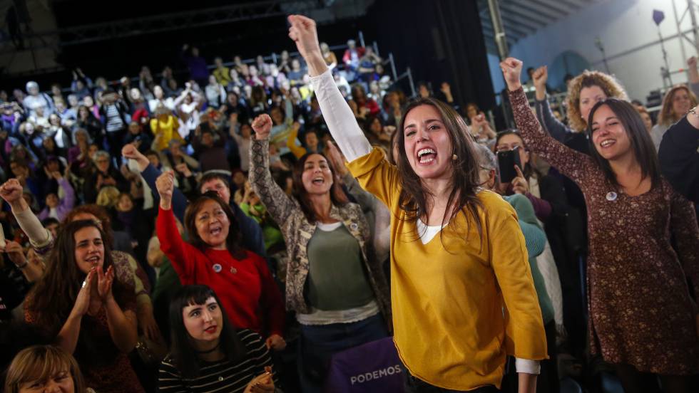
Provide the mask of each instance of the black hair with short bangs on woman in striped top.
POLYGON ((223 316, 223 326, 220 327, 219 346, 227 359, 232 363, 242 362, 247 355, 245 345, 230 323, 225 309, 216 293, 206 285, 185 285, 180 288, 170 300, 170 357, 175 367, 185 378, 196 378, 200 374, 200 362, 192 338, 185 327, 182 310, 188 305, 205 305, 208 298, 214 298, 223 316))

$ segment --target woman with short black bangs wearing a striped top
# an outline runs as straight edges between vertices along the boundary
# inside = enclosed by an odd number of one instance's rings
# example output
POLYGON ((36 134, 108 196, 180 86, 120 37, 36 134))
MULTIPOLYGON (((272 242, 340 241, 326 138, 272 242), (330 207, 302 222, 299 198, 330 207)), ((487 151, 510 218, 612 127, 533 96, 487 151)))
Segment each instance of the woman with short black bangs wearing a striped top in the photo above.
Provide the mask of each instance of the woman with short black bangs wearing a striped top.
POLYGON ((158 392, 272 393, 275 372, 262 337, 235 329, 206 285, 185 285, 170 300, 170 354, 158 392))

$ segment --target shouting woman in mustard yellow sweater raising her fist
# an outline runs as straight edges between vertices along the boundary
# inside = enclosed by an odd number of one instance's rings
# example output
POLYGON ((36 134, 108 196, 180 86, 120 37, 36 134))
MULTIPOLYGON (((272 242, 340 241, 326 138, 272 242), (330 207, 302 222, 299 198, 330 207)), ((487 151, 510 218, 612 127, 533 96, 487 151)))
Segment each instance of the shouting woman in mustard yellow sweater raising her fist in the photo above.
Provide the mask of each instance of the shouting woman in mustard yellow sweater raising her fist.
POLYGON ((546 337, 524 236, 514 209, 479 187, 466 123, 439 100, 410 103, 397 130, 397 167, 389 164, 337 89, 315 22, 289 21, 350 171, 392 211, 394 342, 407 391, 494 391, 512 355, 519 391, 535 392, 546 337))

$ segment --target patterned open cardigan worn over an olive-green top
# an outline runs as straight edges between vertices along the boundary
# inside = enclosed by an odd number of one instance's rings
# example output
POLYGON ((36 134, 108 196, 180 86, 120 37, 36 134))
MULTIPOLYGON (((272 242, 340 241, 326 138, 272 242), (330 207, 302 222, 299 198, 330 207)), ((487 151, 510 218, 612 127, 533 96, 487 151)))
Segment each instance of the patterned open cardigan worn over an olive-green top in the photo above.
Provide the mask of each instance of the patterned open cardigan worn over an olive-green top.
MULTIPOLYGON (((288 253, 286 277, 286 307, 297 313, 310 313, 304 288, 308 277, 307 246, 315 232, 316 224, 310 223, 301 210, 299 202, 288 196, 272 179, 270 173, 269 140, 252 140, 250 144, 250 185, 284 235, 288 253)), ((371 247, 369 224, 357 204, 333 205, 330 209, 333 219, 342 221, 347 231, 354 236, 362 248, 362 260, 367 269, 369 284, 374 290, 379 310, 384 320, 391 325, 391 305, 389 290, 380 264, 374 258, 371 247)))

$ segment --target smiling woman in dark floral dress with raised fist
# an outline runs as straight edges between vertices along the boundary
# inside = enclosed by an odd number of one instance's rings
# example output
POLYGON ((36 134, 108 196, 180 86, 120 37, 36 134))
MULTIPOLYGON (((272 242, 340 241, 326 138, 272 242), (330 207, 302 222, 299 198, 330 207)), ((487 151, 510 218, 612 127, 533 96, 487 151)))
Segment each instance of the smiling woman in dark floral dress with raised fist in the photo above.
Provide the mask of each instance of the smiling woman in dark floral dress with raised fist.
POLYGON ((692 296, 699 294, 699 229, 692 204, 660 175, 633 105, 608 98, 591 109, 590 157, 542 131, 521 88, 521 61, 508 58, 500 66, 524 142, 585 195, 591 352, 616 365, 626 392, 656 388, 656 376, 665 392, 690 392, 699 372, 699 308, 692 296))

